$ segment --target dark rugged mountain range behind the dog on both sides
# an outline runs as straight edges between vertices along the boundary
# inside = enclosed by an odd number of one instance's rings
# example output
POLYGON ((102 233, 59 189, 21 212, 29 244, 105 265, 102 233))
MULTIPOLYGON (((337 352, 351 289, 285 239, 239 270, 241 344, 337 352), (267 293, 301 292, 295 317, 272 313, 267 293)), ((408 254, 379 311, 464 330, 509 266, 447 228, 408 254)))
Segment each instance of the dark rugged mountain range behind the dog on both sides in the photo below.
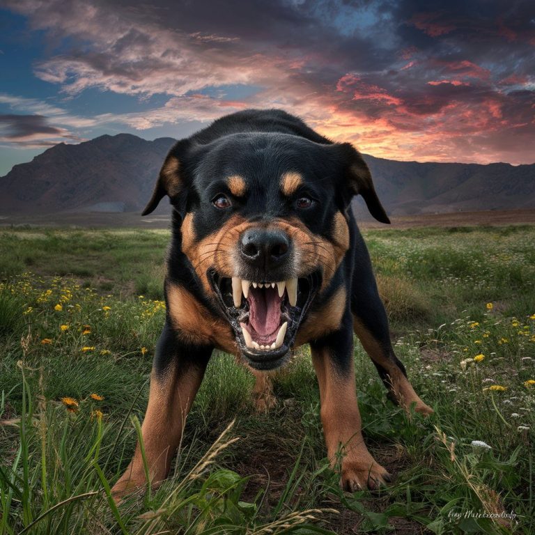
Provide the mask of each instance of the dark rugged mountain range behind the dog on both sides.
MULTIPOLYGON (((139 212, 174 142, 117 134, 58 144, 0 177, 0 215, 139 212)), ((364 159, 390 215, 535 208, 535 164, 364 159)), ((160 213, 169 211, 165 203, 160 207, 160 213)))

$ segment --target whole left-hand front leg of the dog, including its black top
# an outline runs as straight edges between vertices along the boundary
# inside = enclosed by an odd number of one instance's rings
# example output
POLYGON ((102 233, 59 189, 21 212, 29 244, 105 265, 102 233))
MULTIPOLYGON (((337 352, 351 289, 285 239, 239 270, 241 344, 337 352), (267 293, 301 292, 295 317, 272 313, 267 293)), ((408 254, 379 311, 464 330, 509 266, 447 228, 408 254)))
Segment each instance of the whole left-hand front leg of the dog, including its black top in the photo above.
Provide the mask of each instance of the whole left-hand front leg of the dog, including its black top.
MULTIPOLYGON (((185 420, 203 379, 210 347, 179 341, 165 325, 157 344, 150 375, 148 407, 141 426, 150 484, 158 486, 171 467, 185 420)), ((116 500, 146 484, 139 443, 125 473, 111 490, 116 500)))

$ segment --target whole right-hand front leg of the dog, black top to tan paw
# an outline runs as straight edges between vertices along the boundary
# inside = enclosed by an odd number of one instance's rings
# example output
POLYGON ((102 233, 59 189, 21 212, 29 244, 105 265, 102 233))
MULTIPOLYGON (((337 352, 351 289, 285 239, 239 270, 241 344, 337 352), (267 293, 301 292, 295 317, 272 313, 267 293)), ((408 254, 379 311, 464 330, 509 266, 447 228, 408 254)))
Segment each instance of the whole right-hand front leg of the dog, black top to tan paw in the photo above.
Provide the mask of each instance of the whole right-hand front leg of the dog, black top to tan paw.
POLYGON ((389 473, 364 444, 355 389, 351 318, 340 330, 311 343, 312 362, 320 386, 321 419, 327 455, 336 465, 341 453, 341 486, 346 490, 376 489, 390 480, 389 473))

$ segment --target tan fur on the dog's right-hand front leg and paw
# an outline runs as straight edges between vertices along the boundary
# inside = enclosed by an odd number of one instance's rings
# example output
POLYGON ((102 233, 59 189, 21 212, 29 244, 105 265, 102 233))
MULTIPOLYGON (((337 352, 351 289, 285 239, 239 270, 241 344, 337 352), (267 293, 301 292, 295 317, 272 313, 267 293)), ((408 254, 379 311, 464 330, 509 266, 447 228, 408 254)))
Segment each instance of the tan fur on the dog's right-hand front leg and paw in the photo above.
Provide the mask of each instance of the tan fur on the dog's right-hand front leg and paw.
POLYGON ((312 362, 320 387, 321 420, 327 456, 336 464, 341 449, 341 484, 349 490, 374 488, 384 483, 387 471, 375 462, 362 437, 362 421, 355 390, 355 370, 341 375, 329 351, 312 350, 312 362))

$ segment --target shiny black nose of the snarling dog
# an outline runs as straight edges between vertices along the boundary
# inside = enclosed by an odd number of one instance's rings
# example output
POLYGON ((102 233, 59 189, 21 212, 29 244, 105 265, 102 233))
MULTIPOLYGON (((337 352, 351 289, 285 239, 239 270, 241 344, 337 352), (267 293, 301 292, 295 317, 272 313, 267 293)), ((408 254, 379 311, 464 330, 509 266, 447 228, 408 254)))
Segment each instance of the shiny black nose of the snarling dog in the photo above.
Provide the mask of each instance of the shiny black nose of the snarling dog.
POLYGON ((290 239, 278 229, 248 228, 240 239, 240 252, 250 265, 265 270, 279 267, 290 254, 290 239))

